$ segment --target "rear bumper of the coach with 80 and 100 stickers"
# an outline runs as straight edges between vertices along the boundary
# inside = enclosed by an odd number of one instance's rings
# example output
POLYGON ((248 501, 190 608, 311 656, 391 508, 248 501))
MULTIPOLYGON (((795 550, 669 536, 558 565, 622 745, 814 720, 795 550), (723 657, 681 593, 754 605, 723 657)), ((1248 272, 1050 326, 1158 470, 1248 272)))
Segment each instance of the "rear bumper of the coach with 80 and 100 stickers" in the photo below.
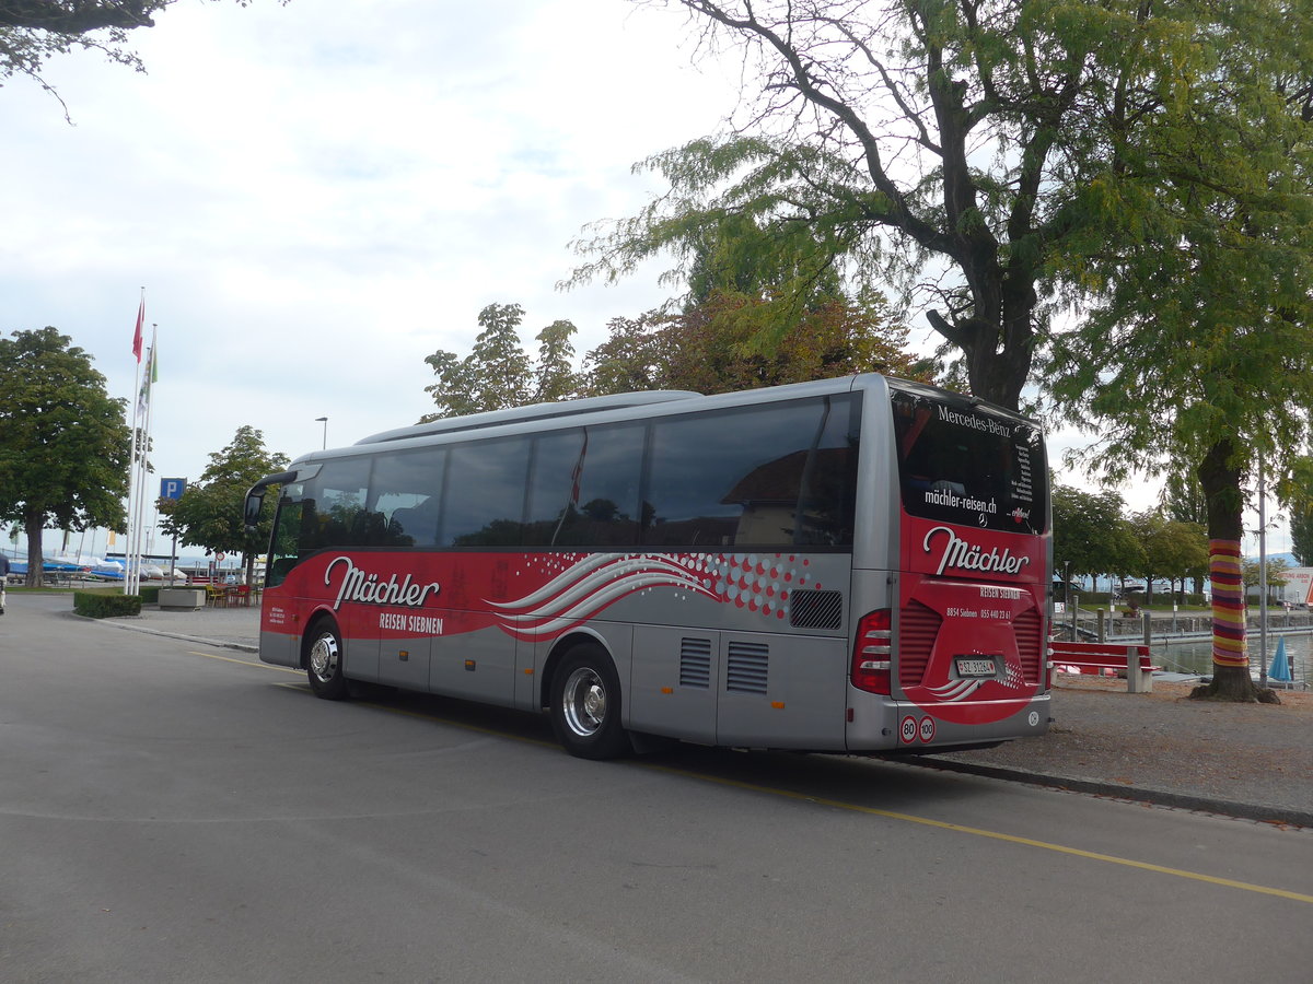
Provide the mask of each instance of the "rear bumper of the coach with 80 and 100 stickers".
POLYGON ((850 752, 930 754, 949 748, 1036 737, 1049 729, 1049 694, 1020 701, 976 701, 922 707, 850 690, 850 752))

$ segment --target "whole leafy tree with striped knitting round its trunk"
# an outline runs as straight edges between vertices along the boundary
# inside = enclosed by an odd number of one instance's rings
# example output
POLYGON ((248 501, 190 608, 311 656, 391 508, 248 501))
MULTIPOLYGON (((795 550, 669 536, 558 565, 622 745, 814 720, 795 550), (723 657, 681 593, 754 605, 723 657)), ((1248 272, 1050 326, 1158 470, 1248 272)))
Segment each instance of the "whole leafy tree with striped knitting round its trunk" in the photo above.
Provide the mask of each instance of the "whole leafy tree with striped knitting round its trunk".
POLYGON ((1119 248, 1073 270, 1086 310, 1050 369, 1060 405, 1102 419, 1112 478, 1194 467, 1213 584, 1197 695, 1250 701, 1246 478, 1289 471, 1313 407, 1313 20, 1280 0, 1209 10, 1184 33, 1190 84, 1096 189, 1119 248))

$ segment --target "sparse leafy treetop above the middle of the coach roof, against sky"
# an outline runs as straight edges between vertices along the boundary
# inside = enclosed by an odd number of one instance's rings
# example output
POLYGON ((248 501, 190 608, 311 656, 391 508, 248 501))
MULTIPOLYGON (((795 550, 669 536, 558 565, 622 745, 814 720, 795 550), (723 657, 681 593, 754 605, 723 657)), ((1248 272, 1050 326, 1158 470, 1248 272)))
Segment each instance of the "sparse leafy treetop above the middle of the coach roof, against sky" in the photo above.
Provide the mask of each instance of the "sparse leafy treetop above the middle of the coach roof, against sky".
POLYGON ((460 417, 479 411, 548 403, 575 395, 578 379, 571 369, 575 327, 553 321, 538 332, 537 363, 520 344, 524 308, 519 304, 488 304, 479 311, 483 331, 469 356, 460 358, 439 349, 424 361, 437 382, 424 387, 439 405, 420 422, 460 417))

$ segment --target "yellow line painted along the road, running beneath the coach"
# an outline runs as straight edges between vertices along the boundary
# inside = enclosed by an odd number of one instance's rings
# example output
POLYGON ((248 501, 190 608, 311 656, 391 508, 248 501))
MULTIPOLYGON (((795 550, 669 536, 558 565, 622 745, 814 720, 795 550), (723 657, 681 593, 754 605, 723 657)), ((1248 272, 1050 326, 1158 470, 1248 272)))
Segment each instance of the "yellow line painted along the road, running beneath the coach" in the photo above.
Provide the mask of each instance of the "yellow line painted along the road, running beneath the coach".
MULTIPOLYGON (((274 669, 282 673, 295 673, 301 676, 301 670, 290 669, 288 666, 273 666, 268 663, 251 663, 248 660, 238 660, 231 656, 219 656, 213 652, 198 652, 190 651, 193 656, 205 656, 211 660, 223 660, 225 663, 238 663, 243 666, 257 666, 260 669, 274 669)), ((290 684, 280 684, 280 686, 290 686, 290 684)), ((540 745, 544 748, 555 748, 554 741, 541 741, 538 739, 523 737, 520 735, 511 735, 504 731, 495 731, 492 728, 481 728, 474 724, 466 724, 463 722, 450 720, 448 718, 439 718, 435 714, 425 714, 423 711, 410 711, 399 707, 389 707, 381 703, 361 702, 369 707, 377 707, 391 714, 400 714, 407 718, 420 718, 423 720, 433 720, 440 724, 446 724, 448 727, 462 728, 463 731, 473 731, 479 735, 491 735, 494 737, 512 739, 515 741, 521 741, 524 744, 540 745)), ((880 810, 877 807, 864 807, 859 803, 846 803, 840 799, 829 799, 826 796, 814 796, 809 792, 796 792, 794 790, 781 790, 773 786, 762 786, 755 782, 744 782, 742 779, 726 779, 718 775, 708 775, 706 773, 695 773, 688 769, 676 769, 668 765, 654 765, 649 762, 639 762, 643 769, 650 769, 653 771, 667 773, 670 775, 683 775, 689 779, 700 779, 702 782, 713 782, 720 786, 729 786, 731 789, 746 790, 748 792, 760 792, 768 796, 781 796, 784 799, 801 800, 804 803, 815 803, 822 807, 831 807, 832 810, 847 810, 852 813, 867 813, 868 816, 882 816, 886 820, 901 820, 907 824, 919 824, 920 827, 934 827, 940 830, 953 830, 955 833, 965 833, 972 837, 986 837, 994 841, 1004 841, 1007 844, 1019 844, 1024 848, 1037 848, 1040 850, 1053 851, 1056 854, 1067 854, 1075 858, 1085 858, 1087 861, 1102 861, 1107 865, 1120 865, 1121 867, 1132 867, 1140 871, 1153 871, 1159 875, 1171 875, 1174 878, 1184 878, 1191 882, 1204 882, 1205 884, 1216 884, 1224 888, 1238 888, 1242 892, 1255 892, 1258 895, 1275 895, 1279 899, 1289 899, 1291 901, 1309 903, 1313 905, 1313 895, 1304 895, 1301 892, 1289 892, 1284 888, 1270 888, 1268 886, 1253 884, 1251 882, 1237 882, 1233 878, 1217 878, 1216 875, 1204 875, 1199 871, 1186 871, 1179 867, 1167 867, 1166 865, 1154 865, 1148 861, 1136 861, 1133 858, 1121 858, 1116 854, 1100 854, 1094 850, 1083 850, 1081 848, 1067 848, 1064 844, 1053 844, 1050 841, 1037 841, 1033 837, 1018 837, 1011 833, 1002 833, 1001 830, 986 830, 981 827, 964 827, 962 824, 952 824, 947 820, 931 820, 928 816, 915 816, 914 813, 899 813, 894 810, 880 810)))

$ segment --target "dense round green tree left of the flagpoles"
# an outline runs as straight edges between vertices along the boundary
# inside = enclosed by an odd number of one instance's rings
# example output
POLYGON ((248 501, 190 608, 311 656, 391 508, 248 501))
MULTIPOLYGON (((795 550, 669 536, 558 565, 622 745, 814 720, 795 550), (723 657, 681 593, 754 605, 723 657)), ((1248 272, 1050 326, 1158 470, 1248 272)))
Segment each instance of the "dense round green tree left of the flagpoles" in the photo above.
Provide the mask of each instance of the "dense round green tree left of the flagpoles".
POLYGON ((41 584, 42 530, 121 529, 131 430, 92 357, 55 328, 0 338, 0 521, 28 534, 41 584))

